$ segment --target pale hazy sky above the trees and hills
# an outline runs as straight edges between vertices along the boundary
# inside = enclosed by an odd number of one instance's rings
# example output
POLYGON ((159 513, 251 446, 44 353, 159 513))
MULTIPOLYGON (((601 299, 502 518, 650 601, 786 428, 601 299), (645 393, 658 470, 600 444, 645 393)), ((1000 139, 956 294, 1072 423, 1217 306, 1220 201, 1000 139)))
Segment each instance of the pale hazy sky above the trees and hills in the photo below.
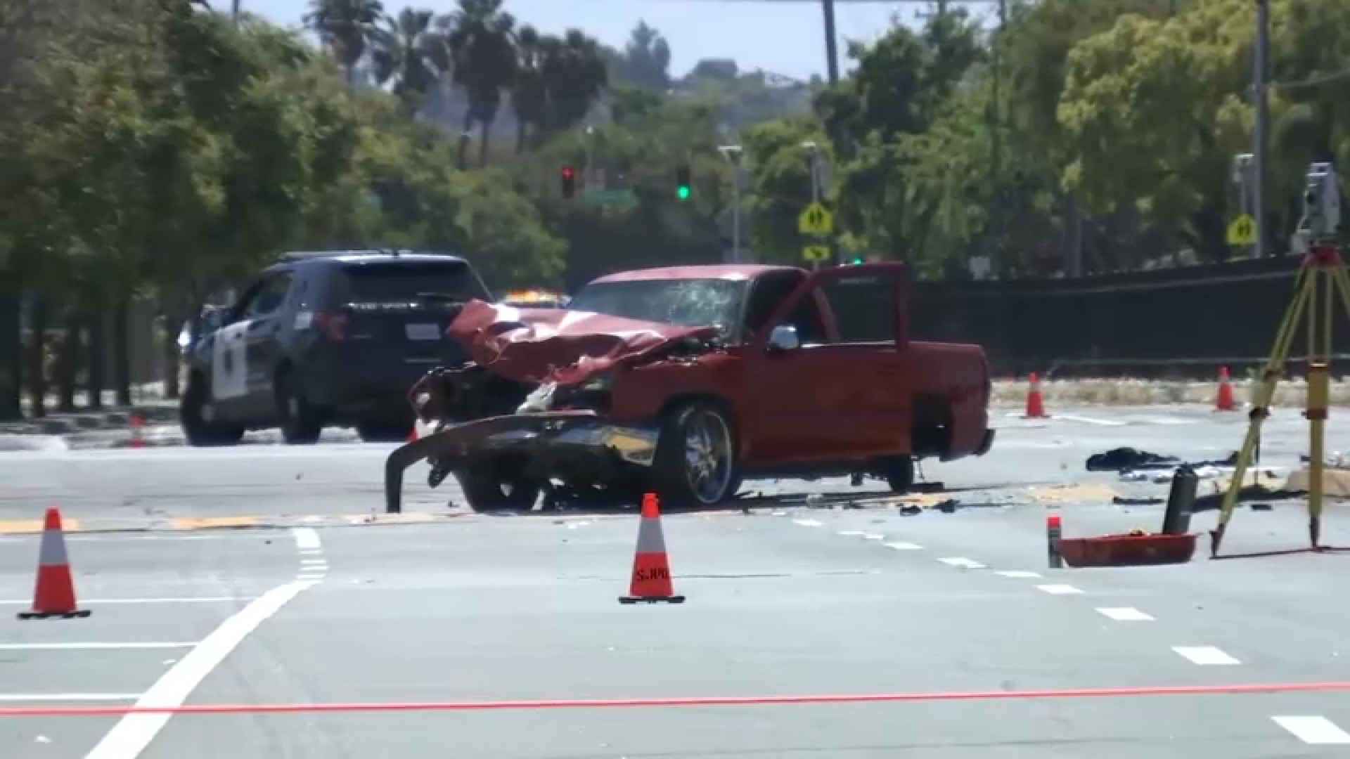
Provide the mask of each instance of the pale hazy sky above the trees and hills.
MULTIPOLYGON (((242 0, 243 8, 284 26, 300 26, 308 0, 242 0)), ((228 1, 213 3, 228 7, 228 1)), ((396 14, 404 7, 446 12, 455 0, 385 0, 396 14)), ((540 31, 585 30, 606 45, 622 47, 639 22, 666 35, 671 46, 671 73, 682 76, 702 58, 733 58, 742 70, 764 69, 794 78, 825 74, 825 38, 821 5, 756 0, 506 0, 506 11, 540 31)), ((869 1, 836 4, 840 61, 845 39, 872 41, 900 15, 913 22, 923 1, 869 1)), ((987 15, 983 7, 975 12, 987 15)))

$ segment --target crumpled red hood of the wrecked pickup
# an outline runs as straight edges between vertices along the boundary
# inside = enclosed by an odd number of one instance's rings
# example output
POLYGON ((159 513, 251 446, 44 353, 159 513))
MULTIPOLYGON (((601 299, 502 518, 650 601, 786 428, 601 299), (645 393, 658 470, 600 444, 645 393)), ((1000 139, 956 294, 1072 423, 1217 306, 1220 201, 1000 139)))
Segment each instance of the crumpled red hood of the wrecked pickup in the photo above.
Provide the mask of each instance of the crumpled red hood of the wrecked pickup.
POLYGON ((446 334, 470 358, 517 382, 574 385, 612 366, 636 361, 717 327, 675 327, 585 311, 514 308, 479 300, 464 305, 446 334))

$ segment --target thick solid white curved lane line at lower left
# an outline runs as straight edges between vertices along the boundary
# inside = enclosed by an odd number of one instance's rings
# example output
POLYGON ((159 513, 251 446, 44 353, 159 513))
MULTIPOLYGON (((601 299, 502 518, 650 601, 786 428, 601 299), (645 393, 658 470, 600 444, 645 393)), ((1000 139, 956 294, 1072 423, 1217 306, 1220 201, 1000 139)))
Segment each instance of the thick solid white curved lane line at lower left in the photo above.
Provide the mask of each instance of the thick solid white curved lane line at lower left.
MULTIPOLYGON (((207 679, 207 675, 220 666, 250 632, 258 629, 258 625, 312 586, 312 582, 288 582, 263 593, 256 601, 221 623, 196 648, 170 667, 150 686, 150 690, 136 698, 136 706, 181 706, 201 681, 207 679)), ((85 755, 85 759, 136 759, 159 731, 169 724, 171 716, 165 713, 124 714, 108 731, 108 735, 103 736, 103 740, 85 755)))

